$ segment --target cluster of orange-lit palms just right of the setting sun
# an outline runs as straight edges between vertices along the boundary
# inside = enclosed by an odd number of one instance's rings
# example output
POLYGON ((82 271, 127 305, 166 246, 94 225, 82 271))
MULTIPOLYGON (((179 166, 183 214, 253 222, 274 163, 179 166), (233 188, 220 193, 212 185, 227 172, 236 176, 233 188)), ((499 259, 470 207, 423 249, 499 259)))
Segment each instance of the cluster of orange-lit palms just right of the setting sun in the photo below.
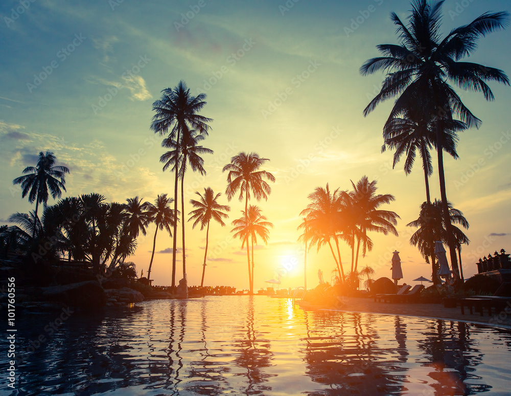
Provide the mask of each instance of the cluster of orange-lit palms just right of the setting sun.
MULTIPOLYGON (((349 283, 351 286, 354 279, 358 279, 357 271, 360 246, 362 255, 373 249, 373 240, 369 232, 379 232, 387 235, 389 233, 398 235, 396 225, 398 214, 389 210, 382 210, 380 207, 394 201, 391 194, 376 194, 376 180, 370 181, 363 176, 356 184, 352 183, 352 190, 343 191, 339 188, 330 190, 329 185, 325 188, 316 187, 309 194, 311 201, 307 208, 301 211, 303 222, 298 229, 304 233, 300 239, 317 250, 328 245, 340 274, 341 283, 349 283), (332 246, 332 240, 336 247, 337 255, 332 246), (342 259, 339 249, 339 241, 343 241, 351 248, 351 271, 344 273, 342 259), (355 276, 356 275, 356 276, 355 276), (347 281, 351 279, 351 281, 347 281)), ((365 270, 365 275, 372 275, 371 270, 365 270)))

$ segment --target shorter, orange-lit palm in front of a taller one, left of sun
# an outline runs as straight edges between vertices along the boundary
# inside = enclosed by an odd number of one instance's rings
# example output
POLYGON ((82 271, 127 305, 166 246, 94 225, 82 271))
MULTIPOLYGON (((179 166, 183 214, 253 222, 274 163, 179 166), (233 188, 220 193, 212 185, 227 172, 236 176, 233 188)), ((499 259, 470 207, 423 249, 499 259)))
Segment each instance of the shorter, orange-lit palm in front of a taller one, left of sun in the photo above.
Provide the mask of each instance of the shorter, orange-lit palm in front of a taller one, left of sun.
POLYGON ((269 230, 268 228, 273 228, 273 224, 267 222, 266 216, 261 214, 261 209, 258 206, 250 205, 248 207, 248 213, 242 212, 243 215, 240 218, 237 218, 233 221, 233 226, 235 226, 231 232, 234 232, 233 235, 235 238, 240 238, 242 240, 241 248, 243 249, 243 245, 248 244, 250 242, 251 250, 252 250, 252 268, 250 271, 249 268, 249 284, 250 284, 250 294, 253 294, 254 288, 254 243, 257 245, 257 237, 260 236, 263 242, 266 244, 268 242, 269 230))

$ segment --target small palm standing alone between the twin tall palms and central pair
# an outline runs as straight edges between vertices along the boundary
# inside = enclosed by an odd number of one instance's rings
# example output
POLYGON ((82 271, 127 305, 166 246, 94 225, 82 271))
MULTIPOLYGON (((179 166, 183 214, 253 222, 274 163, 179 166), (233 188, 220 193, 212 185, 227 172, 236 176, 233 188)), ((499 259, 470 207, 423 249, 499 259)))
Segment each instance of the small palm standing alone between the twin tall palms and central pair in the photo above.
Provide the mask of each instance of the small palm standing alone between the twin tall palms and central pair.
POLYGON ((218 193, 215 195, 213 189, 211 187, 204 188, 204 195, 201 195, 198 191, 195 191, 197 195, 200 196, 199 201, 190 200, 190 204, 195 210, 188 213, 189 216, 192 216, 188 219, 188 221, 195 220, 192 228, 195 228, 196 225, 200 223, 200 230, 204 229, 206 226, 206 248, 204 250, 204 263, 202 265, 202 278, 200 280, 200 287, 204 285, 204 273, 206 271, 206 257, 207 257, 207 242, 208 235, 210 233, 210 221, 211 219, 216 220, 223 227, 225 223, 222 221, 222 218, 227 218, 228 214, 222 212, 225 210, 226 212, 230 211, 230 207, 227 205, 220 205, 217 200, 222 193, 218 193))

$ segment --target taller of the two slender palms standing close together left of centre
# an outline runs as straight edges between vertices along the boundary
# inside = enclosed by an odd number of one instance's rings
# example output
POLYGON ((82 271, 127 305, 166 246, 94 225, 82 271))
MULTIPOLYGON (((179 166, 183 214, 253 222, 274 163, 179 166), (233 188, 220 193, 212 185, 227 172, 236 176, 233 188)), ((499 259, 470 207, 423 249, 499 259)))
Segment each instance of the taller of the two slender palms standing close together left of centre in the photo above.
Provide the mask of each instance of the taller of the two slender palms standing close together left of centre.
MULTIPOLYGON (((177 142, 175 150, 175 164, 179 163, 179 144, 181 144, 181 135, 188 130, 195 129, 199 134, 207 135, 210 129, 208 122, 213 121, 198 114, 204 107, 206 102, 206 94, 198 94, 193 96, 190 89, 184 81, 179 81, 179 84, 171 89, 170 87, 161 91, 162 96, 160 99, 153 103, 153 111, 156 113, 153 116, 151 129, 154 133, 160 136, 169 134, 171 139, 177 142)), ((175 183, 174 183, 174 213, 177 213, 177 182, 178 182, 178 167, 174 168, 175 183)), ((173 232, 173 249, 172 249, 172 287, 176 285, 176 248, 177 248, 177 216, 174 217, 174 232, 173 232)))

